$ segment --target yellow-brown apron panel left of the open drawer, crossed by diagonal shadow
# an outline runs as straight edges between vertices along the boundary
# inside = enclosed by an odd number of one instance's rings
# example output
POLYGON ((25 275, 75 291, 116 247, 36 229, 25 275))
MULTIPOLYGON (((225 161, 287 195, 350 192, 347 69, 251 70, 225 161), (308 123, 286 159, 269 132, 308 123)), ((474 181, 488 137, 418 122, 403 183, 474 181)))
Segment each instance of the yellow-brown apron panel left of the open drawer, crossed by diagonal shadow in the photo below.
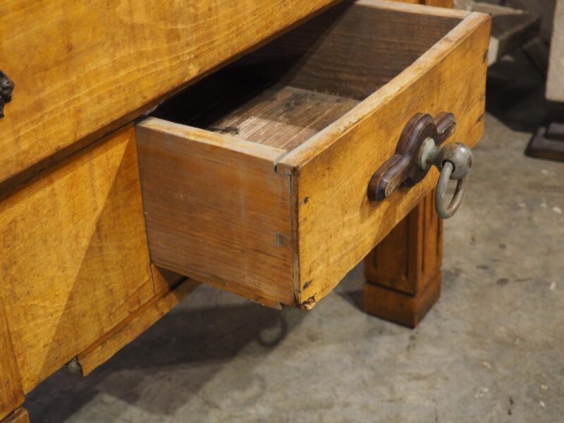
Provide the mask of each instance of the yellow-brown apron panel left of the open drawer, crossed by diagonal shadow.
POLYGON ((0 203, 0 290, 24 392, 154 295, 130 125, 0 203))

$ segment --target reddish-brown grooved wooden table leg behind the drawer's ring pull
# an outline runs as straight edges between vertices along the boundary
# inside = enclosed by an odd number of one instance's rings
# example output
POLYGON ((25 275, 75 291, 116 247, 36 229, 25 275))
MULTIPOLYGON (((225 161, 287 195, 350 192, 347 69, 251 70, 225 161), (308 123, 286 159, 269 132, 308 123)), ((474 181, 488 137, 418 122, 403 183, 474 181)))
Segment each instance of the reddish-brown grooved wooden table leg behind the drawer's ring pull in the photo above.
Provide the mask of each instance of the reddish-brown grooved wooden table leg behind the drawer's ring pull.
POLYGON ((364 310, 415 328, 441 295, 442 257, 433 191, 364 259, 364 310))

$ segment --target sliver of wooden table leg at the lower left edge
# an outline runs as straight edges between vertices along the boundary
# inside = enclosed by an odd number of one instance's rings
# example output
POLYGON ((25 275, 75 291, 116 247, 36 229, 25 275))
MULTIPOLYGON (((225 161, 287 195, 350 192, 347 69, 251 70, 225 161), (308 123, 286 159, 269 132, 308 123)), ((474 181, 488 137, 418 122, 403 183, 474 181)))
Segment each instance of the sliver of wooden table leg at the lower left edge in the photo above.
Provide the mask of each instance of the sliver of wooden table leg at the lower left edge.
POLYGON ((22 381, 0 292, 0 419, 23 403, 22 381))

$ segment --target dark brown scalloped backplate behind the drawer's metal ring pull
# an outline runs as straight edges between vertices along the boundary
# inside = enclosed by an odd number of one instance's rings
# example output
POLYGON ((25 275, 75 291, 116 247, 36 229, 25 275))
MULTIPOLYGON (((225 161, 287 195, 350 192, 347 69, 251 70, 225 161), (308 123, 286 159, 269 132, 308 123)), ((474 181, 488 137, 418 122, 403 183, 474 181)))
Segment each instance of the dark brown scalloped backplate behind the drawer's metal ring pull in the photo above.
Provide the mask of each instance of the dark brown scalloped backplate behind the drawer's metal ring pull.
POLYGON ((443 144, 453 134, 455 126, 451 113, 443 112, 435 118, 429 114, 415 114, 400 135, 396 153, 370 179, 369 199, 384 200, 400 185, 411 188, 423 180, 431 168, 422 168, 419 164, 424 142, 430 139, 436 146, 443 144))

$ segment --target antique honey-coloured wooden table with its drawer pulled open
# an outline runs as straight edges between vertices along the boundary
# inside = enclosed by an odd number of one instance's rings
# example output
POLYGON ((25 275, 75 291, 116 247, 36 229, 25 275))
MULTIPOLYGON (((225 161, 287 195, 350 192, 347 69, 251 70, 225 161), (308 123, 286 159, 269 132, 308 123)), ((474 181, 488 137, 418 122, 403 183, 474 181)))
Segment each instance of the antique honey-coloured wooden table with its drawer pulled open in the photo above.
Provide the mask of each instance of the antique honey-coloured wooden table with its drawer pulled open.
POLYGON ((439 298, 431 162, 482 135, 488 16, 8 0, 0 34, 0 419, 199 283, 311 309, 367 257, 368 312, 439 298))

